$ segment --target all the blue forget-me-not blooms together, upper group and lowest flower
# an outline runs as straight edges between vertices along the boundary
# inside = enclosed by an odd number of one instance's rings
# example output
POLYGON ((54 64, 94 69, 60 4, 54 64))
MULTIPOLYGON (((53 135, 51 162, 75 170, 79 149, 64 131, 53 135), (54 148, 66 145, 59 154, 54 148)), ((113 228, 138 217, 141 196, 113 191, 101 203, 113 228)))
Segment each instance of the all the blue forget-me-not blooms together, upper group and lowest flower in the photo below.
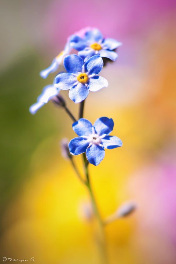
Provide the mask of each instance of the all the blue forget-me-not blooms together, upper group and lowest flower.
MULTIPOLYGON (((55 98, 60 90, 70 90, 69 97, 77 104, 87 98, 89 91, 97 92, 107 87, 107 80, 99 75, 104 65, 102 58, 116 60, 116 49, 120 45, 117 40, 104 38, 97 28, 87 27, 71 35, 64 50, 54 58, 47 69, 40 72, 40 76, 47 78, 50 73, 59 69, 61 63, 65 72, 59 72, 53 84, 43 88, 37 102, 29 109, 31 114, 35 114, 50 100, 56 102, 55 98), (78 54, 69 55, 73 48, 78 54)), ((93 165, 98 165, 103 160, 105 148, 112 149, 122 145, 119 138, 109 136, 114 122, 107 117, 97 119, 94 126, 87 119, 81 118, 73 123, 72 127, 78 137, 70 141, 70 153, 79 155, 85 152, 87 160, 93 165)))

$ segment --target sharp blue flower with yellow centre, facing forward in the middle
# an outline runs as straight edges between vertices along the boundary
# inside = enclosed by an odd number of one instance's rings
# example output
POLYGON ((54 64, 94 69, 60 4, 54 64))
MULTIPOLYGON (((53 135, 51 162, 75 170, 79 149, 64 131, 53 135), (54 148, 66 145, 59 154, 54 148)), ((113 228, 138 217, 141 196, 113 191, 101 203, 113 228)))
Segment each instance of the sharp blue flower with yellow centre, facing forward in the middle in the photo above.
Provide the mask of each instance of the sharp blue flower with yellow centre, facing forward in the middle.
POLYGON ((60 73, 55 78, 55 86, 61 90, 68 90, 69 97, 75 103, 80 103, 89 94, 89 90, 96 92, 108 86, 105 78, 97 76, 103 68, 101 56, 92 56, 84 64, 82 58, 76 54, 64 59, 64 67, 67 72, 60 73))

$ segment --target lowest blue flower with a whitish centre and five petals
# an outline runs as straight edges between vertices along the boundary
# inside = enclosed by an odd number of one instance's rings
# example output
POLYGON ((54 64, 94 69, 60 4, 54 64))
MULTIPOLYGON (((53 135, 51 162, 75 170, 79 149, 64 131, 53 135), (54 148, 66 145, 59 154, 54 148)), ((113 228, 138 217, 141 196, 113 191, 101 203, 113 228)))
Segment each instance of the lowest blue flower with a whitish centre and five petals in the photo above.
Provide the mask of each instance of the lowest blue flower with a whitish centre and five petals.
POLYGON ((97 119, 92 123, 84 118, 73 123, 72 128, 79 137, 73 138, 69 143, 72 155, 86 152, 89 163, 97 166, 103 160, 105 148, 113 149, 122 146, 122 141, 116 136, 108 136, 113 130, 114 122, 107 117, 97 119))

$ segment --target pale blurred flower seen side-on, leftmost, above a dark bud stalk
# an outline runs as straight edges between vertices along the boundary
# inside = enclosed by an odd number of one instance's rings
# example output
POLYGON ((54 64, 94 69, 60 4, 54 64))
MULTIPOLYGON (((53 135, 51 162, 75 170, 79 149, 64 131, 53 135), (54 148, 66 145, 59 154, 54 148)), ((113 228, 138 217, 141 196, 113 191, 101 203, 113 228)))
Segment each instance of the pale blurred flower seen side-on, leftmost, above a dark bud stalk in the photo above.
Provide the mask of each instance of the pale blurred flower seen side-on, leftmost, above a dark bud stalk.
POLYGON ((29 108, 31 114, 35 114, 44 104, 48 103, 53 97, 55 97, 60 92, 60 89, 54 86, 54 84, 49 84, 43 88, 42 93, 37 98, 37 102, 29 108))

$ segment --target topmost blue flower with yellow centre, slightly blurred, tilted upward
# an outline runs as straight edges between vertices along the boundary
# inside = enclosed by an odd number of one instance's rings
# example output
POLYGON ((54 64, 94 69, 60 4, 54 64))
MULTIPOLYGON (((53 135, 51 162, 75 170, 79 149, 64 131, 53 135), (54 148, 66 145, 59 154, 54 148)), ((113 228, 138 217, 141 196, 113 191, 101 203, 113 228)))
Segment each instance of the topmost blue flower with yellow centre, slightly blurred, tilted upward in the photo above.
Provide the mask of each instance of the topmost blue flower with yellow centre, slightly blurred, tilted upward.
POLYGON ((113 38, 103 38, 101 32, 94 28, 87 31, 84 38, 72 35, 70 38, 70 45, 79 51, 78 55, 85 61, 97 54, 114 61, 118 56, 114 50, 118 48, 121 43, 113 38))

